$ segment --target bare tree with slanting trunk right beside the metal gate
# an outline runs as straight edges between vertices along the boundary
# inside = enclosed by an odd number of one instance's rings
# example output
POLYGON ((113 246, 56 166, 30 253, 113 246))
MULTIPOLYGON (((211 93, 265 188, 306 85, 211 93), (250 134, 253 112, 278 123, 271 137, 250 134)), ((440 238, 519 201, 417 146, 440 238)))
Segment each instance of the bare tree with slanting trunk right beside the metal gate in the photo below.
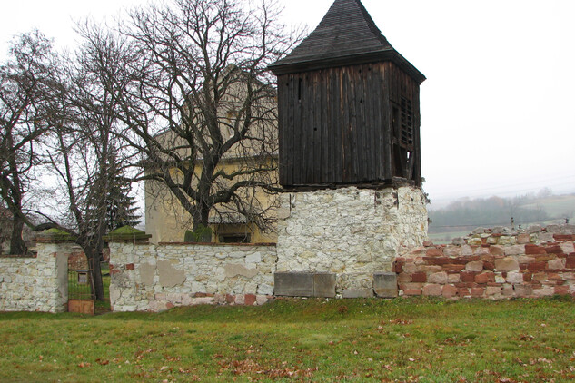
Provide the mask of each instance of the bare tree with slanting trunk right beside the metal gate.
POLYGON ((114 192, 119 186, 125 190, 125 168, 134 151, 120 139, 124 125, 117 119, 118 100, 108 86, 111 79, 122 78, 124 57, 116 54, 123 51, 100 28, 84 25, 85 31, 90 31, 90 40, 60 64, 57 82, 63 84, 64 92, 51 103, 49 118, 54 129, 44 156, 46 169, 55 179, 57 198, 47 206, 52 213, 43 215, 50 221, 45 227, 74 235, 90 263, 95 297, 103 300, 104 235, 112 226, 111 210, 116 210, 114 216, 121 214, 110 198, 119 197, 114 192))

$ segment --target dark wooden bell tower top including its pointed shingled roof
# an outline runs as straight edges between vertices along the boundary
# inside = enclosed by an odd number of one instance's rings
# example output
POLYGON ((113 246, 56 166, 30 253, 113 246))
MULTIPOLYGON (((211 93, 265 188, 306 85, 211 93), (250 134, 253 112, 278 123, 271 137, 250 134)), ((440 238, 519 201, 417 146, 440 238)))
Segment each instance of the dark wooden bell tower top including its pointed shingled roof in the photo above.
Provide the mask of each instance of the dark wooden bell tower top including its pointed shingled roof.
POLYGON ((286 191, 421 187, 425 80, 360 0, 336 0, 278 76, 280 183, 286 191))

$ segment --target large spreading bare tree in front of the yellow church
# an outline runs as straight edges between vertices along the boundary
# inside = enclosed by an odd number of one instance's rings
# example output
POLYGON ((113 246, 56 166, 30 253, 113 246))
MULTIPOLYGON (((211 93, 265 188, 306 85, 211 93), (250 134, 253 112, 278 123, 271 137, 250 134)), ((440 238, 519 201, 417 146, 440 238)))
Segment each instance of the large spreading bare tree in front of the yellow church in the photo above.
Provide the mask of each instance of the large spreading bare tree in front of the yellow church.
POLYGON ((274 5, 236 0, 173 0, 135 10, 120 31, 137 60, 130 83, 114 83, 125 135, 142 153, 139 181, 169 190, 193 221, 241 214, 270 227, 276 191, 277 109, 268 64, 299 36, 277 24, 274 5), (233 166, 224 166, 233 162, 233 166))

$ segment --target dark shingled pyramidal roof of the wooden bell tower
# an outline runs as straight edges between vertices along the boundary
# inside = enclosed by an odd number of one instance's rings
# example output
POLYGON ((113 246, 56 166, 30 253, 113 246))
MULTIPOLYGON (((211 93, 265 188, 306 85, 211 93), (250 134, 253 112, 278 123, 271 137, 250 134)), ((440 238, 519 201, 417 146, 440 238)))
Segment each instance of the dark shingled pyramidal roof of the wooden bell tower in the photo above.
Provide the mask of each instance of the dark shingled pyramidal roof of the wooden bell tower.
POLYGON ((320 25, 291 54, 270 65, 274 74, 392 61, 422 83, 425 76, 393 49, 360 0, 335 0, 320 25))

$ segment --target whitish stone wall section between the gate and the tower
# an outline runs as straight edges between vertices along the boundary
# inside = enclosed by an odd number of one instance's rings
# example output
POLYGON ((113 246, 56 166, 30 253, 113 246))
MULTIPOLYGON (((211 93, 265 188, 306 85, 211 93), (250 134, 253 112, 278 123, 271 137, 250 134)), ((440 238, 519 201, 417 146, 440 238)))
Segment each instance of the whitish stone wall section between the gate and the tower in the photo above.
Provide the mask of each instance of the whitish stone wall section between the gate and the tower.
POLYGON ((114 311, 261 304, 273 295, 275 246, 110 243, 114 311))

